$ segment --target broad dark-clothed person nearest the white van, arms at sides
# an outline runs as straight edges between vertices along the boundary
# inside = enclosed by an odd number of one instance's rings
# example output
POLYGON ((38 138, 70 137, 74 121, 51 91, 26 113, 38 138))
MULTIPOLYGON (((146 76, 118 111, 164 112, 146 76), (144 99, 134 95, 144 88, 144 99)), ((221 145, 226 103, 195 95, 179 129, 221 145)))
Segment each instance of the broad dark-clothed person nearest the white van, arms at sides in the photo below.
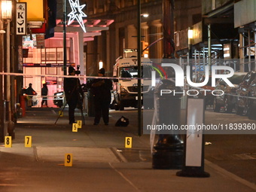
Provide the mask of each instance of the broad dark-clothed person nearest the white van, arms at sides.
MULTIPOLYGON (((105 77, 105 69, 99 69, 98 77, 105 77)), ((105 125, 109 121, 109 105, 111 102, 112 81, 110 79, 95 78, 87 83, 88 88, 92 91, 93 102, 95 107, 94 125, 99 124, 100 117, 103 118, 105 125)))

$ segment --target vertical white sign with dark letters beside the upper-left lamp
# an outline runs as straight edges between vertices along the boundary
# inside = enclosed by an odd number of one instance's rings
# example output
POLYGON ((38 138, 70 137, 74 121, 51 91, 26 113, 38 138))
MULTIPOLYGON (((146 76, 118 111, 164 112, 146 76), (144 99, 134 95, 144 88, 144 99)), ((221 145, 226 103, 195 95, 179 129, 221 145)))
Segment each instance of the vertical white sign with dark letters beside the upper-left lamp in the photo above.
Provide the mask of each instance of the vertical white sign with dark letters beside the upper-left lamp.
POLYGON ((26 2, 16 4, 16 35, 26 35, 26 2))

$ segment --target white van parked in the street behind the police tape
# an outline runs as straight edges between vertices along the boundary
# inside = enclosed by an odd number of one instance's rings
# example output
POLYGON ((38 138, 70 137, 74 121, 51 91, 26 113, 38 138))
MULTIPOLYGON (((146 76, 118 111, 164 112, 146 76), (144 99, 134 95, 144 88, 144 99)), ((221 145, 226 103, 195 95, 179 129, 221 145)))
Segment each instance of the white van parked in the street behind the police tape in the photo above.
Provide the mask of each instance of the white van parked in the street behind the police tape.
MULTIPOLYGON (((113 76, 120 78, 114 80, 113 93, 115 110, 124 107, 138 107, 138 62, 136 56, 118 57, 114 65, 113 76)), ((154 90, 151 87, 152 62, 148 58, 141 59, 142 72, 142 105, 144 108, 153 108, 154 90), (147 101, 145 101, 147 100, 147 101), (151 104, 152 106, 148 106, 151 104)))

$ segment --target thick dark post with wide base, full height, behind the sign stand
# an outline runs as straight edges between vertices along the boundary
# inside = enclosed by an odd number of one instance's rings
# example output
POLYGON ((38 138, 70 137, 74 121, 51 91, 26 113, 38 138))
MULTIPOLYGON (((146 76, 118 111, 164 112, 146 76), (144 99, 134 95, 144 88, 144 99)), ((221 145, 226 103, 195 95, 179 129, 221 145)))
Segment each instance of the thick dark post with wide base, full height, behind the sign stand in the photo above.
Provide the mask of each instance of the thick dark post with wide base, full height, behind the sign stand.
MULTIPOLYGON (((174 35, 174 1, 163 0, 163 62, 171 62, 175 58, 174 35)), ((172 78, 172 75, 169 74, 172 78)), ((177 77, 177 76, 176 76, 177 77)), ((176 80, 177 81, 177 80, 176 80)), ((175 87, 175 82, 169 79, 161 80, 154 90, 154 99, 157 100, 157 123, 181 124, 181 96, 161 96, 160 90, 172 89, 179 93, 181 87, 175 87)), ((160 134, 152 153, 154 169, 180 169, 183 162, 184 136, 169 130, 168 134, 160 134)))

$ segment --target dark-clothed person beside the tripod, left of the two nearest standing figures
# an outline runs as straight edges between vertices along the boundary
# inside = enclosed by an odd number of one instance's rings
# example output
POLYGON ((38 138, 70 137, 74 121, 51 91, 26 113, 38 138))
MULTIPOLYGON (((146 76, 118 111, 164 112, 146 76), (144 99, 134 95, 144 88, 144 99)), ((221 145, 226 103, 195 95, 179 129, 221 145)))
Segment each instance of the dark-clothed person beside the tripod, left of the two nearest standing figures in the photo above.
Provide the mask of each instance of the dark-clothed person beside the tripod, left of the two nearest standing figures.
MULTIPOLYGON (((69 75, 75 76, 75 69, 69 66, 69 75)), ((69 104, 69 124, 75 123, 75 108, 84 97, 78 78, 64 78, 64 91, 69 104)))

